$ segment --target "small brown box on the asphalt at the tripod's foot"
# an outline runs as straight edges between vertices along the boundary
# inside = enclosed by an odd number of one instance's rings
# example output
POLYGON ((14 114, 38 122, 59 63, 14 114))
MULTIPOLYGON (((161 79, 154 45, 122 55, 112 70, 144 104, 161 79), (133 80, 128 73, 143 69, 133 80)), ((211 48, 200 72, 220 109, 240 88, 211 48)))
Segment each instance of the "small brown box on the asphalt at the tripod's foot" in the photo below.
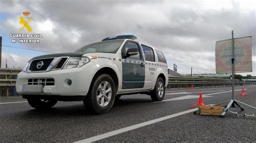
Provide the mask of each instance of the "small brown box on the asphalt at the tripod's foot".
POLYGON ((200 115, 220 116, 223 113, 223 106, 199 106, 200 115))

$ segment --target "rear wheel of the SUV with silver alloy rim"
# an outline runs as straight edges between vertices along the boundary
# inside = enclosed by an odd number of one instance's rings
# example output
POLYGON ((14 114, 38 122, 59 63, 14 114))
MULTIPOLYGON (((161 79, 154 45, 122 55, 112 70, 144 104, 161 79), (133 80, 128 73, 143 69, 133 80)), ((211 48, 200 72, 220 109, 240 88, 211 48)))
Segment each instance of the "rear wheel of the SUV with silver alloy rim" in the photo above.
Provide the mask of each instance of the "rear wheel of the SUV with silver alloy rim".
POLYGON ((158 77, 154 90, 151 91, 150 97, 152 101, 163 101, 165 96, 165 82, 163 78, 158 77), (159 89, 160 88, 160 89, 159 89))

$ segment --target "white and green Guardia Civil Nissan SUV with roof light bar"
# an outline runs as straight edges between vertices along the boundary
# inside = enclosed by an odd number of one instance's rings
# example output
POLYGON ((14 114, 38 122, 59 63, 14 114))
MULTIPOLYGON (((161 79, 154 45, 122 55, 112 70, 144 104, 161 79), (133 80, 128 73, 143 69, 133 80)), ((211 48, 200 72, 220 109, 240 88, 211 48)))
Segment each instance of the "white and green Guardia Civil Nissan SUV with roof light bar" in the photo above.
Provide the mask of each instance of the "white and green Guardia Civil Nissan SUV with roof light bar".
POLYGON ((94 113, 110 111, 122 95, 147 94, 162 101, 168 68, 159 49, 118 35, 86 45, 73 53, 32 58, 18 74, 18 94, 37 109, 57 101, 83 101, 94 113))

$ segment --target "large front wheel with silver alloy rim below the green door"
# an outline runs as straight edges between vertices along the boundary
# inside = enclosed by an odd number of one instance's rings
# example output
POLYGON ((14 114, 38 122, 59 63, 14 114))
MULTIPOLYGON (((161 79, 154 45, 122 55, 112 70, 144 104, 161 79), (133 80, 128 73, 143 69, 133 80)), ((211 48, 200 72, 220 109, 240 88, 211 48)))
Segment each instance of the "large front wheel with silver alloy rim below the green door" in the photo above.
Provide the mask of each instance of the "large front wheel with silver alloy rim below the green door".
POLYGON ((111 76, 99 75, 91 86, 89 94, 84 99, 85 108, 96 114, 109 112, 116 96, 111 76))

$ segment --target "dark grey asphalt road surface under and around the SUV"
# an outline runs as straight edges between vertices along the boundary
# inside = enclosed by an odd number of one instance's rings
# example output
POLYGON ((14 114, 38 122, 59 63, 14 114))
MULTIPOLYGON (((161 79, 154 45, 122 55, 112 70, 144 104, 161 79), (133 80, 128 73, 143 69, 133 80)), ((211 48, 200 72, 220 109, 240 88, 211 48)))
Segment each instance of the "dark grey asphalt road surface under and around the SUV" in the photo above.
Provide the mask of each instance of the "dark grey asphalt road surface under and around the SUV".
MULTIPOLYGON (((256 106, 256 86, 244 87, 248 96, 239 96, 241 88, 235 87, 239 90, 235 91, 235 99, 256 106)), ((231 87, 166 90, 165 101, 158 103, 147 95, 127 95, 104 115, 91 115, 82 102, 58 102, 42 111, 31 108, 22 98, 0 98, 0 142, 75 142, 93 137, 98 142, 256 141, 256 117, 238 117, 230 112, 224 118, 193 112, 174 116, 191 110, 190 106, 198 102, 199 92, 208 96, 203 96, 205 104, 217 104, 231 99, 230 90, 231 87), (138 127, 170 115, 174 117, 138 127), (135 128, 120 133, 127 127, 135 128), (107 138, 104 133, 109 133, 107 138)), ((256 110, 246 108, 239 113, 256 115, 256 110)))

